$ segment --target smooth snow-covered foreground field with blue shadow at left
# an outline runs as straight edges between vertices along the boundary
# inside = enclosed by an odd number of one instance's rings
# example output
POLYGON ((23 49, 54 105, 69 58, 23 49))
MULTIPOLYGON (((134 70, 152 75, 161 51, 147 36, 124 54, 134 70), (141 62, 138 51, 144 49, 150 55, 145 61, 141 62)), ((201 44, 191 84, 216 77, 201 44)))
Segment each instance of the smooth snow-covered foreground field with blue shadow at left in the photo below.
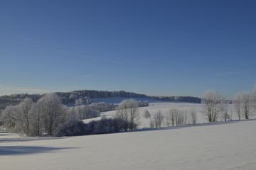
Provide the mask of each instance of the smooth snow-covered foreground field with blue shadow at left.
POLYGON ((255 169, 256 120, 79 137, 0 132, 9 169, 255 169))

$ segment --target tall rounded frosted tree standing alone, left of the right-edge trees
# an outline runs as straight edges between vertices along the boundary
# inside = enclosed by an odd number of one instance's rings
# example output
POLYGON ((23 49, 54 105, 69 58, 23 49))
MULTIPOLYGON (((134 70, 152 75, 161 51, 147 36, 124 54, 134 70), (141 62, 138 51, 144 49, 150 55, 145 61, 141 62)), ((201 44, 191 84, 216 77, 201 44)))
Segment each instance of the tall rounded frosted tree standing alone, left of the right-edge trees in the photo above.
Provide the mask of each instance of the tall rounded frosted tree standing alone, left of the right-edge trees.
POLYGON ((218 91, 205 91, 202 98, 202 113, 206 115, 209 122, 217 121, 223 105, 223 97, 218 91))

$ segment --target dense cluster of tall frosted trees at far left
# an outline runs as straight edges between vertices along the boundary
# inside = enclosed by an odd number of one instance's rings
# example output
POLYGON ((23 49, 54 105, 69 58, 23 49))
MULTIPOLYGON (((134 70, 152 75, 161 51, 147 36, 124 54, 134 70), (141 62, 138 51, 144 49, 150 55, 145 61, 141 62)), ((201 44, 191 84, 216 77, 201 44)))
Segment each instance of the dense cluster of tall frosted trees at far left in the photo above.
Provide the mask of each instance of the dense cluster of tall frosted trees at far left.
POLYGON ((6 131, 27 136, 53 135, 67 117, 68 109, 56 94, 46 94, 37 102, 25 98, 17 106, 7 106, 0 115, 6 131))

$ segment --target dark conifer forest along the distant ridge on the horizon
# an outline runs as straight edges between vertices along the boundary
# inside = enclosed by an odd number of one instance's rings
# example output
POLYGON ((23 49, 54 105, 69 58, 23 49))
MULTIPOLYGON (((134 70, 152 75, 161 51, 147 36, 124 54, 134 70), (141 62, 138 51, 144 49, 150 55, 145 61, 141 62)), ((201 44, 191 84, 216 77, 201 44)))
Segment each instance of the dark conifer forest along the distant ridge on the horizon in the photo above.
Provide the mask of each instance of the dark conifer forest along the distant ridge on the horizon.
MULTIPOLYGON (((70 92, 56 92, 64 104, 74 103, 75 100, 82 98, 84 100, 88 98, 108 98, 108 97, 126 97, 126 98, 149 98, 161 101, 183 101, 192 103, 201 103, 201 98, 191 96, 146 96, 145 94, 136 94, 127 91, 95 91, 95 90, 81 90, 70 92)), ((0 96, 0 109, 4 109, 9 105, 17 105, 23 98, 32 98, 33 102, 38 101, 43 94, 12 94, 9 96, 0 96)))

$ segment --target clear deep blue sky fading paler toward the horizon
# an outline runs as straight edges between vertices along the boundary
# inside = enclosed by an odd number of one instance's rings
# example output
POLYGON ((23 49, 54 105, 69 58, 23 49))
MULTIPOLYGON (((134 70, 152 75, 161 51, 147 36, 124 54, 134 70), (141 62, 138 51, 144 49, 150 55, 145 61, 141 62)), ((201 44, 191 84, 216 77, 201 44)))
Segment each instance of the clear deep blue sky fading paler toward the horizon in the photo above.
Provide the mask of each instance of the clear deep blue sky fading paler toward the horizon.
POLYGON ((0 1, 0 96, 232 98, 256 84, 256 1, 0 1))

